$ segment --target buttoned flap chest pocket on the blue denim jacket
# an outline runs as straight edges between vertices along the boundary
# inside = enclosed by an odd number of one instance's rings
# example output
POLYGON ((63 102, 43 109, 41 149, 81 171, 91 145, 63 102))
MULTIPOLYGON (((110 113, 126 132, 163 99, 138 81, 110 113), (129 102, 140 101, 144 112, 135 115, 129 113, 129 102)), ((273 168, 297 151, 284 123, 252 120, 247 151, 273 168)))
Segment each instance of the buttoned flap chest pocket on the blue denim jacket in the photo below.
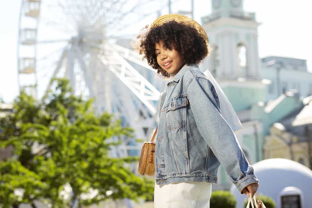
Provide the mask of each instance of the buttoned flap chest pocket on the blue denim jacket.
POLYGON ((186 128, 186 108, 188 105, 186 95, 174 96, 163 107, 162 111, 166 112, 165 118, 167 119, 168 129, 178 130, 181 127, 186 128))

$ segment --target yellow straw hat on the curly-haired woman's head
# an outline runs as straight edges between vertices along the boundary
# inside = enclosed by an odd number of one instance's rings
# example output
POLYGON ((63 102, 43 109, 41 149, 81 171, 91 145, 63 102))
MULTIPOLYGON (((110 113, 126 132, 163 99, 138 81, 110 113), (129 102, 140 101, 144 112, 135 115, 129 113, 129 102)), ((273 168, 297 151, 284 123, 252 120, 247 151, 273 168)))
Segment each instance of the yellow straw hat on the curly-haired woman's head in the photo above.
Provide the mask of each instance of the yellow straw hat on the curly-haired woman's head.
POLYGON ((202 28, 202 26, 198 24, 198 22, 196 22, 195 20, 193 20, 192 18, 188 16, 184 16, 181 14, 165 14, 155 19, 154 22, 151 24, 151 28, 160 26, 163 23, 169 22, 172 20, 175 20, 178 23, 185 23, 185 24, 193 26, 198 31, 198 33, 206 40, 207 46, 209 45, 208 36, 204 28, 202 28))

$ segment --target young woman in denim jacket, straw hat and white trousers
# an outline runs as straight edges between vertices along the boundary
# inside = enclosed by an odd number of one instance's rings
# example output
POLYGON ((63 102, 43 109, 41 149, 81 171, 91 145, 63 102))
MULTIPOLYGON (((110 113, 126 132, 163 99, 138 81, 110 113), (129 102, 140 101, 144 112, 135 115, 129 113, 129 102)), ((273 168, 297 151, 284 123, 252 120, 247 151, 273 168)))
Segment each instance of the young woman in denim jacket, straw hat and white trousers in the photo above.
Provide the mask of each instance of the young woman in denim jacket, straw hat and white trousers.
POLYGON ((236 188, 253 196, 259 181, 234 133, 241 123, 213 77, 198 68, 210 51, 204 29, 169 14, 137 38, 134 49, 167 80, 154 140, 155 208, 209 207, 220 163, 236 188))

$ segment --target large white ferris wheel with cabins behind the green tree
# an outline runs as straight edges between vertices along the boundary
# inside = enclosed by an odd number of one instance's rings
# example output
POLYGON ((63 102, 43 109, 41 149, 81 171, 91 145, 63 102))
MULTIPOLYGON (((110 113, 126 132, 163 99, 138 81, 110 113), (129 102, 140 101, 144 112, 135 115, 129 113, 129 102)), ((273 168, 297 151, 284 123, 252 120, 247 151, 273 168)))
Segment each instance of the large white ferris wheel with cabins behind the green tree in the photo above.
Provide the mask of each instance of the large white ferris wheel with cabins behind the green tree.
MULTIPOLYGON (((164 83, 128 47, 129 39, 122 42, 167 6, 167 0, 22 0, 19 89, 41 99, 52 78, 68 78, 75 94, 95 98, 97 112, 114 114, 134 128, 137 138, 149 139, 164 83)), ((115 156, 139 155, 140 149, 141 144, 127 140, 115 156)))

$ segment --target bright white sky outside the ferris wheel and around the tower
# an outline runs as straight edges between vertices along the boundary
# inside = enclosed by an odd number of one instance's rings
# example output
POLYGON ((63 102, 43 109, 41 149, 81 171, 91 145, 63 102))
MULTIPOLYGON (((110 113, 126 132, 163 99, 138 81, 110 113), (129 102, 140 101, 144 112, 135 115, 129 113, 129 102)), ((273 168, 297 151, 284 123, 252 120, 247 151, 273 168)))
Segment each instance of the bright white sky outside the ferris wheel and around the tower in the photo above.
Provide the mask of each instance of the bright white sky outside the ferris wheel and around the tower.
MULTIPOLYGON (((6 1, 0 7, 0 98, 5 102, 12 102, 18 94, 16 51, 20 2, 6 1)), ((174 6, 172 12, 177 12, 174 6)), ((188 0, 179 3, 180 10, 187 10, 190 6, 188 0)), ((200 17, 211 13, 210 0, 194 0, 194 7, 197 22, 200 22, 200 17)), ((256 21, 261 23, 258 27, 259 58, 285 56, 306 59, 308 70, 312 72, 311 8, 312 1, 306 0, 245 0, 245 11, 256 12, 256 21)))

